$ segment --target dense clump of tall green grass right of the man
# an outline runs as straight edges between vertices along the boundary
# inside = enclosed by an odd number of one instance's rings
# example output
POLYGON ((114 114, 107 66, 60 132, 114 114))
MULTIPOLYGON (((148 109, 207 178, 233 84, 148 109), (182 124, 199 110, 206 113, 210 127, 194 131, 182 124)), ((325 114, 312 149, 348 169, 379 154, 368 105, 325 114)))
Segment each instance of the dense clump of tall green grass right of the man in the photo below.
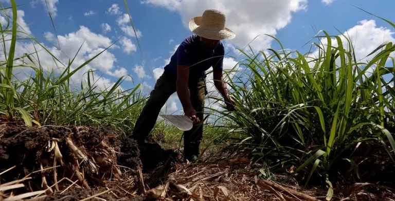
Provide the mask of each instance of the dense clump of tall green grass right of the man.
POLYGON ((331 197, 332 181, 351 177, 338 173, 343 161, 360 178, 352 153, 361 143, 380 145, 394 162, 395 93, 384 76, 393 75, 395 45, 382 44, 361 62, 346 35, 323 33, 316 55, 285 51, 275 38, 279 51, 239 49, 246 70, 228 82, 237 111, 214 112, 229 128, 219 137, 231 141, 224 150, 251 152, 270 171, 296 166, 291 176, 308 172, 306 184, 318 176, 331 197))

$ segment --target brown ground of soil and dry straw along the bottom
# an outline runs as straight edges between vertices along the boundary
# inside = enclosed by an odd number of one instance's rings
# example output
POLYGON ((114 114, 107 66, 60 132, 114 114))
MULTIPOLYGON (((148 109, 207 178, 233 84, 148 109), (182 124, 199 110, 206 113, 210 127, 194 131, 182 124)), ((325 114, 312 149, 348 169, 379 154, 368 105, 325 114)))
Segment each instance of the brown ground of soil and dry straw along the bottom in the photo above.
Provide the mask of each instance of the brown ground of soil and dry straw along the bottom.
MULTIPOLYGON (((325 200, 327 192, 302 190, 295 179, 258 178, 262 166, 248 157, 190 164, 159 146, 140 152, 110 126, 26 127, 4 119, 1 125, 0 163, 7 169, 1 170, 0 200, 325 200)), ((333 200, 393 197, 389 187, 356 183, 335 188, 333 200)))

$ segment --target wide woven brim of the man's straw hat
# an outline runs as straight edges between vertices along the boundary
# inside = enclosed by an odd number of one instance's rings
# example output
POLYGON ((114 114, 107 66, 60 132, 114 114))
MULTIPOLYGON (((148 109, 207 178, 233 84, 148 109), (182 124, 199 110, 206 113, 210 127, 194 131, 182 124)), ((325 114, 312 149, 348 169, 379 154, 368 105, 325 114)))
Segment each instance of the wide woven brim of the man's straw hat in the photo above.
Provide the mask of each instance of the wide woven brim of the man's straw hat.
POLYGON ((216 29, 212 27, 200 26, 202 16, 193 17, 189 21, 189 29, 197 35, 212 40, 230 40, 236 37, 236 34, 228 28, 216 29))

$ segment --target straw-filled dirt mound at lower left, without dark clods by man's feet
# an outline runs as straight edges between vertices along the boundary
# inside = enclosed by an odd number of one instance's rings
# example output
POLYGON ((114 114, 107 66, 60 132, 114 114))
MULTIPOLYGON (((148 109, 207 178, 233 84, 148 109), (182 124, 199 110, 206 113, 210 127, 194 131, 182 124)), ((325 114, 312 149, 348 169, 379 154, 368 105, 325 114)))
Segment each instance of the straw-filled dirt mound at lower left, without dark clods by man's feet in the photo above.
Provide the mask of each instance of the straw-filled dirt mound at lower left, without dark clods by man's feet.
MULTIPOLYGON (((57 167, 57 173, 76 173, 77 177, 81 177, 82 172, 97 177, 110 176, 110 170, 113 174, 120 174, 117 168, 119 148, 112 146, 119 139, 111 133, 110 127, 26 127, 8 124, 2 129, 0 136, 0 171, 15 166, 2 176, 1 182, 21 179, 54 166, 57 167)), ((46 172, 50 174, 49 171, 46 172)), ((52 173, 57 174, 56 172, 52 173)), ((81 182, 87 186, 85 181, 81 182)), ((50 184, 48 181, 48 185, 50 184)))

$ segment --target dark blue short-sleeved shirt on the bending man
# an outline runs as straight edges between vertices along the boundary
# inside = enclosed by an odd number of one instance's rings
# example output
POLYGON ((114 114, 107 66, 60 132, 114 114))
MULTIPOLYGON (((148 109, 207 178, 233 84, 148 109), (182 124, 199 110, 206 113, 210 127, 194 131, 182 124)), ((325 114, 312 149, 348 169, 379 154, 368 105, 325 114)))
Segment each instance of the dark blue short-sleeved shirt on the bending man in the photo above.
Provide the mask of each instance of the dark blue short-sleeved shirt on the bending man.
POLYGON ((177 74, 177 65, 189 66, 190 78, 206 78, 206 70, 211 66, 213 70, 222 70, 225 48, 220 41, 212 50, 204 49, 200 36, 188 36, 174 52, 169 64, 165 66, 165 73, 177 74))

